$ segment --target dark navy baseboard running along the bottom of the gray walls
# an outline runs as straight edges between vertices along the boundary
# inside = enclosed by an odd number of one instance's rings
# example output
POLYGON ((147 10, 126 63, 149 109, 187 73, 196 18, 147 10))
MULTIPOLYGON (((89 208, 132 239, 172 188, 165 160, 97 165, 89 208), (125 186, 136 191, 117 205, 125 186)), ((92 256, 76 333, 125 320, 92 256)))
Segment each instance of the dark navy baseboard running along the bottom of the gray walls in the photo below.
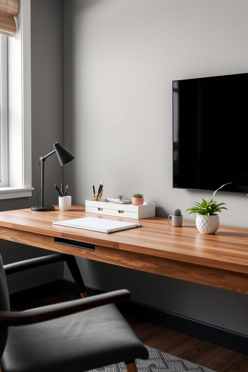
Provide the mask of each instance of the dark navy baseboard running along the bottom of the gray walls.
MULTIPOLYGON (((93 287, 86 286, 86 288, 89 296, 103 293, 103 291, 93 287)), ((10 294, 10 304, 14 308, 25 301, 27 302, 29 298, 35 300, 61 292, 80 297, 77 286, 73 281, 58 279, 22 291, 12 292, 10 294)), ((133 300, 119 302, 116 305, 123 314, 139 317, 144 321, 161 325, 173 331, 248 355, 248 336, 245 334, 187 318, 183 315, 174 314, 133 300)))

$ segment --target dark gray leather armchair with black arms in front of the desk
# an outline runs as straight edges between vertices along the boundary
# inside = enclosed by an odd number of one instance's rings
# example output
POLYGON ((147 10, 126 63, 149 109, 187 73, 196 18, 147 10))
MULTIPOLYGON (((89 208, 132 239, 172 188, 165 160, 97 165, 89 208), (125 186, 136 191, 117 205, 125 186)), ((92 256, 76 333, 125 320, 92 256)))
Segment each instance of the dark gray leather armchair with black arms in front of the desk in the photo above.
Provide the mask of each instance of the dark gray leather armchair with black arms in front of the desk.
MULTIPOLYGON (((137 371, 134 359, 146 359, 148 352, 113 304, 131 297, 126 289, 10 311, 4 269, 10 274, 56 259, 75 260, 68 255, 52 256, 4 267, 0 256, 0 371, 83 372, 121 361, 127 372, 137 371)), ((75 274, 77 270, 78 267, 71 272, 81 292, 85 287, 81 275, 80 279, 75 274)), ((81 293, 85 295, 84 292, 81 293)))

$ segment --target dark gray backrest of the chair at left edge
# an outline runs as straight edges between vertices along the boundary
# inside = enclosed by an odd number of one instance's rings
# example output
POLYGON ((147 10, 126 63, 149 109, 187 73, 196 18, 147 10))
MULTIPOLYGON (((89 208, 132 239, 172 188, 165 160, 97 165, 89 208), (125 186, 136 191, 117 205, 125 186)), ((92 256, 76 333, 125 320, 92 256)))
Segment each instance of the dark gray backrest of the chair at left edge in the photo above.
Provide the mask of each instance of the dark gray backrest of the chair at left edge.
MULTIPOLYGON (((7 280, 3 269, 3 261, 0 255, 0 310, 10 311, 9 303, 9 291, 7 286, 7 280)), ((9 327, 0 327, 0 357, 3 354, 3 350, 7 341, 9 327)))

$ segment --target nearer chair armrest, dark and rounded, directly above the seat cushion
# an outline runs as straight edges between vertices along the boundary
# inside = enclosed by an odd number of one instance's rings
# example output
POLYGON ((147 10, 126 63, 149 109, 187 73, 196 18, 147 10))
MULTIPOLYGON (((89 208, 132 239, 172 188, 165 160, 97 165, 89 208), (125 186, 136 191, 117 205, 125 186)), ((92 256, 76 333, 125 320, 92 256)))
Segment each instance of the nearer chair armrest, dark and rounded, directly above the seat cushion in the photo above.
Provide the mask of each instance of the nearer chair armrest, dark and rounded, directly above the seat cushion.
POLYGON ((131 293, 127 289, 120 289, 118 291, 107 292, 100 295, 62 302, 55 305, 42 306, 25 311, 0 310, 0 326, 38 323, 44 320, 73 314, 78 311, 91 309, 93 307, 110 304, 112 302, 125 301, 129 298, 131 298, 131 293))

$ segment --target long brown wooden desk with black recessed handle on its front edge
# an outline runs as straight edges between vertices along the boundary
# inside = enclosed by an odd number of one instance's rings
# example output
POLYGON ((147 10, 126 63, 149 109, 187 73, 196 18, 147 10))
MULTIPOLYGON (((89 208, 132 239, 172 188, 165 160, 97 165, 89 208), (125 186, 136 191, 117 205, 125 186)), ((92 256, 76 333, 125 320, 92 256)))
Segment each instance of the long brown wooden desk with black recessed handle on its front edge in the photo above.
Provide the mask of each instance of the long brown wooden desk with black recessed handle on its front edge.
POLYGON ((0 212, 0 238, 248 293, 248 229, 220 226, 216 234, 206 235, 200 234, 192 221, 172 227, 161 217, 128 219, 143 226, 110 234, 52 225, 52 221, 86 216, 126 220, 86 214, 84 206, 79 205, 68 212, 58 206, 53 212, 19 209, 0 212), (55 237, 95 244, 95 250, 61 245, 54 242, 55 237))

